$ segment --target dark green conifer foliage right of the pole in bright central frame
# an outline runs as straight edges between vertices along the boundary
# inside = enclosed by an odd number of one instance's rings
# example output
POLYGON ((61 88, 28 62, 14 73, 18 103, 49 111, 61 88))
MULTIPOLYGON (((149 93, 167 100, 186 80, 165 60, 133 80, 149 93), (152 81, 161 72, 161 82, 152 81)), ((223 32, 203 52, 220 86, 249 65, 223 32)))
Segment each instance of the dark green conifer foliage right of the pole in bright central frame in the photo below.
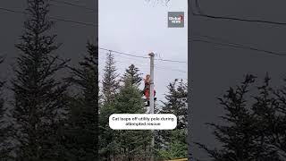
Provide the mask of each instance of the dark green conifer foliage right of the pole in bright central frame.
POLYGON ((167 87, 166 101, 161 114, 175 114, 177 128, 173 131, 156 131, 157 153, 164 159, 187 157, 188 86, 183 80, 174 80, 167 87))

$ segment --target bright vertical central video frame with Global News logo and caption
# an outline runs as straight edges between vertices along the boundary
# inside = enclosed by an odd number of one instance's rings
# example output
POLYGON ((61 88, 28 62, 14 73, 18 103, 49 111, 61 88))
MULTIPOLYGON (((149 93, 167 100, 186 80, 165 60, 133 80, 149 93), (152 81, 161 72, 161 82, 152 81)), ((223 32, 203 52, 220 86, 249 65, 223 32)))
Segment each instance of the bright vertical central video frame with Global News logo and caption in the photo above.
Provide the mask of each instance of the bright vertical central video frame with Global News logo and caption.
POLYGON ((100 160, 188 160, 187 3, 98 1, 100 160))

